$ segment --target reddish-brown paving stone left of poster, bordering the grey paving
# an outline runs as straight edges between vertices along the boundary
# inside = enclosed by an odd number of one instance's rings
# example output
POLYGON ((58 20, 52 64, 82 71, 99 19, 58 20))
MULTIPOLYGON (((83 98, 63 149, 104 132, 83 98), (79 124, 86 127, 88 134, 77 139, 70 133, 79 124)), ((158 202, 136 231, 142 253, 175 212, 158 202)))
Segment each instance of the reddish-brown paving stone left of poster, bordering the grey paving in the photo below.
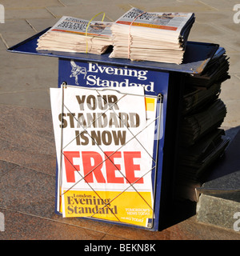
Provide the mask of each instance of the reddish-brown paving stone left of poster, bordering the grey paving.
POLYGON ((50 110, 11 106, 1 106, 1 110, 0 156, 5 165, 0 165, 0 175, 8 167, 6 162, 55 175, 56 157, 50 110))

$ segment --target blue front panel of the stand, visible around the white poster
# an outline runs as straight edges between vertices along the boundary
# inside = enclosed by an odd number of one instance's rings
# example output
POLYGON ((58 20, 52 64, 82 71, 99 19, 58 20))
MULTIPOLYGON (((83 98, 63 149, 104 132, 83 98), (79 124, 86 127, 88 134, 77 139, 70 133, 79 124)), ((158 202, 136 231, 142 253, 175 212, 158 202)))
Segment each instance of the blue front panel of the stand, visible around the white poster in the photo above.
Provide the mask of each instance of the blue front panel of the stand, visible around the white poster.
MULTIPOLYGON (((89 88, 107 88, 106 83, 112 82, 111 87, 130 87, 144 86, 145 94, 158 97, 161 94, 162 111, 161 114, 156 111, 156 116, 161 116, 160 126, 156 124, 156 137, 159 132, 158 139, 154 140, 153 157, 156 159, 154 171, 152 172, 153 191, 154 191, 154 220, 151 228, 147 230, 158 230, 161 207, 161 190, 162 190, 162 162, 163 148, 165 141, 166 126, 166 105, 169 86, 170 73, 166 71, 148 70, 141 67, 129 67, 126 65, 113 65, 112 63, 90 62, 86 59, 59 58, 58 62, 58 87, 62 82, 71 86, 83 86, 89 88), (114 74, 114 70, 118 69, 118 74, 114 74), (78 70, 78 72, 76 72, 78 70)), ((110 85, 109 85, 110 86, 110 85)), ((159 101, 158 101, 159 102, 159 101)), ((58 169, 57 169, 58 176, 58 169)), ((58 211, 57 211, 58 213, 58 211)), ((104 221, 108 222, 108 221, 104 221)), ((115 224, 132 226, 123 222, 114 222, 115 224)), ((135 226, 139 227, 139 226, 135 226)), ((141 227, 143 228, 143 227, 141 227)))

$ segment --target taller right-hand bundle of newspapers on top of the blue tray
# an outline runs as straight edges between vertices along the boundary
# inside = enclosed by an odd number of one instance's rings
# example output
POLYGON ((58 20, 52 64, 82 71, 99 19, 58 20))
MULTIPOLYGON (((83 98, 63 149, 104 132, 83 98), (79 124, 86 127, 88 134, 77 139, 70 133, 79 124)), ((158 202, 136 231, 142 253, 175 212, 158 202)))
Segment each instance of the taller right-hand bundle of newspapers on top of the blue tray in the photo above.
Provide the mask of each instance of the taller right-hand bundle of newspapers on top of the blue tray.
POLYGON ((181 64, 193 13, 150 13, 132 8, 111 26, 110 58, 181 64))

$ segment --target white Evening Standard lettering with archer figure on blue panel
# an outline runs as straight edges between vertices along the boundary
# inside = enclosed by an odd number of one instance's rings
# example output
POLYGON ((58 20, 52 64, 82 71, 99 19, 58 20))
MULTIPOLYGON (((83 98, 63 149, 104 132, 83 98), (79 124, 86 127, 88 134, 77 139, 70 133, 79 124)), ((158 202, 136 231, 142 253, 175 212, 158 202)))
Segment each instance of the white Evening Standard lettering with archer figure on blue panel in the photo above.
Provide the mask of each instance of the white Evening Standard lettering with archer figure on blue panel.
POLYGON ((154 92, 154 82, 147 82, 148 70, 132 70, 127 67, 101 66, 96 62, 89 62, 88 68, 78 66, 74 60, 70 61, 72 67, 70 78, 75 78, 75 84, 78 83, 78 76, 86 79, 86 85, 99 87, 128 87, 143 86, 148 92, 154 92), (106 74, 112 79, 102 79, 101 75, 106 74), (122 77, 121 81, 114 80, 116 77, 122 77), (129 78, 136 78, 137 82, 130 82, 129 78))

